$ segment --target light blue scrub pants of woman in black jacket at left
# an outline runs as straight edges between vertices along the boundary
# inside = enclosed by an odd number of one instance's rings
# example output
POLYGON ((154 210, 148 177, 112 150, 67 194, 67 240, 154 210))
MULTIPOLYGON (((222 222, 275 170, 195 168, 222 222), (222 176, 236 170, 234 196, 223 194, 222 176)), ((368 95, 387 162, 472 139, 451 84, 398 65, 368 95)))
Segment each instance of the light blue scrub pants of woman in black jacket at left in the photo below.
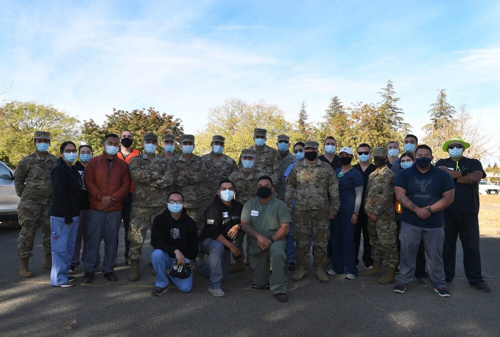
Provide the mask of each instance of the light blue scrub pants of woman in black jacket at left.
POLYGON ((60 286, 67 281, 67 272, 73 258, 78 230, 78 217, 73 217, 73 223, 66 225, 64 218, 50 217, 50 244, 52 253, 52 270, 50 285, 60 286))

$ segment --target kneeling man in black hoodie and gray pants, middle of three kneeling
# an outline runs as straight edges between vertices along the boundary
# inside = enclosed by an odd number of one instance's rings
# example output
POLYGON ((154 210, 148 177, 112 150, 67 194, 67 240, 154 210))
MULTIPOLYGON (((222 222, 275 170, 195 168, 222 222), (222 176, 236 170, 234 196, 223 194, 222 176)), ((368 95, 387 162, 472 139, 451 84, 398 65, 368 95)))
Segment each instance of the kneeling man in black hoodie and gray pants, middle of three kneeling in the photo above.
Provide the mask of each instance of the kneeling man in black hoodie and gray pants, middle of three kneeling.
POLYGON ((219 183, 213 203, 205 210, 205 225, 199 234, 199 246, 206 256, 196 262, 196 273, 210 279, 208 292, 215 297, 225 296, 220 288, 226 281, 234 258, 241 252, 236 241, 240 228, 243 205, 234 200, 232 181, 223 179, 219 183))

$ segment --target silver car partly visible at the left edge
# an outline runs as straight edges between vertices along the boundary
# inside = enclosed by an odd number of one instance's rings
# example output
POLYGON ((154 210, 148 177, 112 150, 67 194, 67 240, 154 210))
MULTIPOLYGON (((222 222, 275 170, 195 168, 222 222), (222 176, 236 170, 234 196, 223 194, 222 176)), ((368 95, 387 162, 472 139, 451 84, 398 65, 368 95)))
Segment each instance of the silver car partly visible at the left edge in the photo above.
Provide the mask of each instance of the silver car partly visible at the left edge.
POLYGON ((19 199, 15 194, 14 171, 0 161, 0 220, 17 219, 19 199))

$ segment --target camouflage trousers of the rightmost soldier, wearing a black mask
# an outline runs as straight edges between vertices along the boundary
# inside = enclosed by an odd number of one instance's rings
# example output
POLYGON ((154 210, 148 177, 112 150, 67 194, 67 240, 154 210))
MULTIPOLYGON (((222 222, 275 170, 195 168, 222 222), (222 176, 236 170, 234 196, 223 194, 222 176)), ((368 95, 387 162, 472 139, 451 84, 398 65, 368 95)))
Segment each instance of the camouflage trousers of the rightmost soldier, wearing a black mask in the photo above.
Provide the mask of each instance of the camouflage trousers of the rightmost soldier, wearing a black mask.
POLYGON ((391 268, 397 267, 397 225, 392 217, 380 216, 373 222, 368 219, 368 234, 373 261, 385 261, 391 268))

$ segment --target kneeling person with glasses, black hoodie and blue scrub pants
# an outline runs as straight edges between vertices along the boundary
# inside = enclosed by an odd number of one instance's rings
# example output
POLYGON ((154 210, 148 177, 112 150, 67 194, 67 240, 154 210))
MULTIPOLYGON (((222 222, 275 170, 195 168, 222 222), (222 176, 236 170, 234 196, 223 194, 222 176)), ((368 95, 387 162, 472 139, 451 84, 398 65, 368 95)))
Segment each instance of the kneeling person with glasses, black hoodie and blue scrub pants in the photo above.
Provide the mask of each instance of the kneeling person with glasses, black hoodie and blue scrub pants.
MULTIPOLYGON (((182 207, 184 197, 179 192, 171 192, 167 198, 167 209, 154 218, 151 227, 151 263, 156 273, 156 288, 152 295, 161 296, 168 291, 168 277, 165 270, 174 263, 183 268, 191 268, 186 259, 194 261, 198 254, 198 230, 196 223, 182 207)), ((170 280, 181 293, 192 288, 192 274, 187 278, 170 276, 170 280)))

